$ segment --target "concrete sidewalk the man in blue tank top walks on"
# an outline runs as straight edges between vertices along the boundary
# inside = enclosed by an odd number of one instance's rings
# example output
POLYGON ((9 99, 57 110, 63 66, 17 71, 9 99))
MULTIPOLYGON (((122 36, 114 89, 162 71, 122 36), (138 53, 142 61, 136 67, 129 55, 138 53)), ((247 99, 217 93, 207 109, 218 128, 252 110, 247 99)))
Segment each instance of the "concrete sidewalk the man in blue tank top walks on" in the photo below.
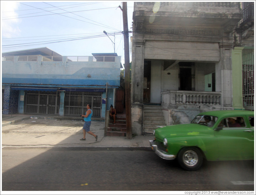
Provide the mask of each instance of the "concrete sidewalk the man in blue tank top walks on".
POLYGON ((77 117, 45 115, 2 115, 2 147, 146 147, 154 136, 126 137, 104 136, 105 122, 92 118, 90 130, 98 135, 83 137, 84 122, 77 117))

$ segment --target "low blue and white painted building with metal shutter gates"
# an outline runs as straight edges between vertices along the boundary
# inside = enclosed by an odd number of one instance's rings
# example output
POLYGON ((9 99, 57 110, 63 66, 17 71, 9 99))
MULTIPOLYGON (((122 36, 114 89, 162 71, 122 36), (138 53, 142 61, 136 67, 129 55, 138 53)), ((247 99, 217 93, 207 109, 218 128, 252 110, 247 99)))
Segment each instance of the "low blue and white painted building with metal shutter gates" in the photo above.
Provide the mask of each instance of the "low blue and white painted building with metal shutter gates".
POLYGON ((93 117, 105 118, 120 86, 121 58, 92 55, 48 48, 2 53, 2 113, 80 116, 91 104, 93 117))

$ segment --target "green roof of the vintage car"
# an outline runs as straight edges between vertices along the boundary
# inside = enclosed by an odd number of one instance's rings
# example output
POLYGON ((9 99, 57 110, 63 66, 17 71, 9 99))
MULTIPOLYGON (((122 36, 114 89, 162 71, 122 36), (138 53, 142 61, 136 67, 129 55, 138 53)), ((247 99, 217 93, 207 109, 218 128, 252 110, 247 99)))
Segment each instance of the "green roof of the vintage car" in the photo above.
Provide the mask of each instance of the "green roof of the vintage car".
POLYGON ((201 112, 198 115, 211 115, 216 117, 228 117, 228 116, 238 116, 238 115, 250 115, 254 116, 254 111, 250 110, 218 110, 218 111, 208 111, 201 112))

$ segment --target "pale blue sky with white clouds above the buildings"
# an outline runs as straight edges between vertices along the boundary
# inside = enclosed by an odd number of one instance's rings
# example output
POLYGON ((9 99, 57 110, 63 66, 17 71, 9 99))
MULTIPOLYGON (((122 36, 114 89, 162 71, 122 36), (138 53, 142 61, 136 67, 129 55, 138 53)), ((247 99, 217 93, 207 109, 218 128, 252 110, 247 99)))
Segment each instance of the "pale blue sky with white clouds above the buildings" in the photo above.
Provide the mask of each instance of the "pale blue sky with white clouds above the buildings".
MULTIPOLYGON (((124 63, 121 1, 1 0, 0 3, 2 53, 41 47, 63 56, 115 52, 124 63)), ((129 31, 132 31, 133 4, 134 1, 127 1, 129 31)), ((132 33, 129 42, 131 36, 132 33)))

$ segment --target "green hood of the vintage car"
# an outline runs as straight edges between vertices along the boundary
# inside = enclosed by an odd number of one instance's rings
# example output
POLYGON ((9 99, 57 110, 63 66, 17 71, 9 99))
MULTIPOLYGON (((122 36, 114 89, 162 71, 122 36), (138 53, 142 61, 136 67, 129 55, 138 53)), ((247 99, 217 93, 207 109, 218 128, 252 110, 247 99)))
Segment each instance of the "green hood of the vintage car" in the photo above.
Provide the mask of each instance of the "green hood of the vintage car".
POLYGON ((194 123, 177 124, 156 129, 155 137, 162 139, 173 136, 199 135, 202 131, 207 131, 207 129, 211 130, 212 127, 194 123))

